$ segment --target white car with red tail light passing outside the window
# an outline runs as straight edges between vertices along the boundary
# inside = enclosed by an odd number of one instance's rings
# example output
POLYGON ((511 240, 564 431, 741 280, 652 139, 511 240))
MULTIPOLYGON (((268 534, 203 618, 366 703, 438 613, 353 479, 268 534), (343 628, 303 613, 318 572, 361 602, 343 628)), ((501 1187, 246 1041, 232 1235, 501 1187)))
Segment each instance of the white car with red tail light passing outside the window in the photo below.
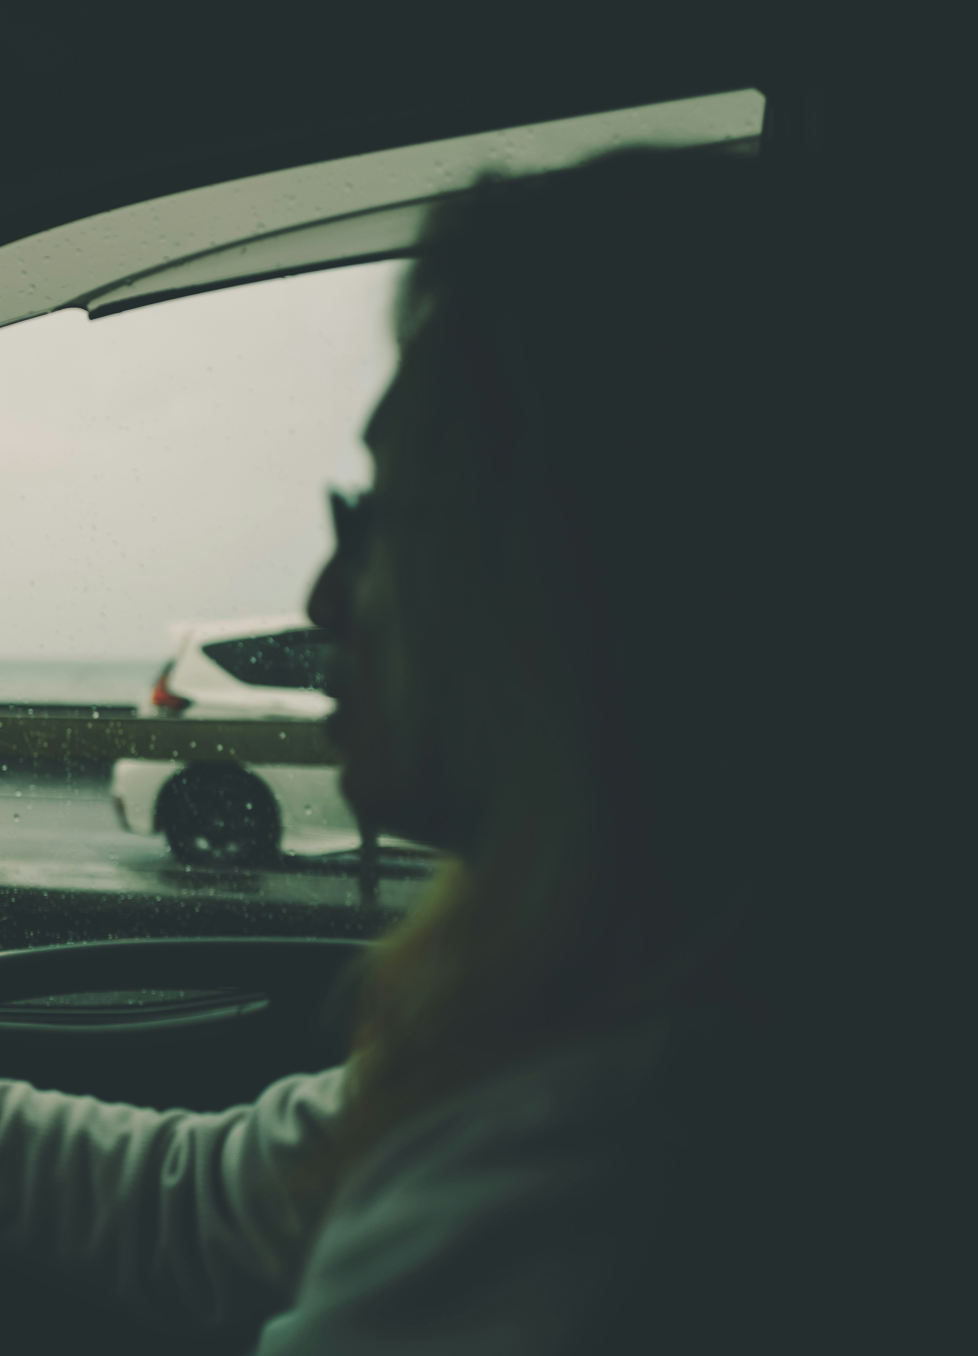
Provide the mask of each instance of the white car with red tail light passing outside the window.
MULTIPOLYGON (((327 641, 298 616, 174 628, 165 664, 141 716, 164 720, 319 720, 327 641)), ((339 792, 339 769, 184 763, 121 758, 113 800, 125 829, 163 831, 174 856, 198 865, 260 865, 281 852, 317 856, 359 846, 339 792)))

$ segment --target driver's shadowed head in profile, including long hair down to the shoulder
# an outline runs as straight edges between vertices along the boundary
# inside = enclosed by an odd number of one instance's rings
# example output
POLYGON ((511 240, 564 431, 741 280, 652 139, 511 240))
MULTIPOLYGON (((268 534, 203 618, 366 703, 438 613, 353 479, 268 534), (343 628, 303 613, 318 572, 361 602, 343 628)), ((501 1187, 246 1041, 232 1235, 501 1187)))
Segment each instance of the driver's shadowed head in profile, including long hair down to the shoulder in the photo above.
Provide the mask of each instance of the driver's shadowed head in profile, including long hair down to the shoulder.
POLYGON ((374 494, 309 606, 350 801, 461 862, 372 961, 361 1144, 627 1013, 845 820, 845 551, 789 255, 734 157, 620 152, 431 216, 374 494))

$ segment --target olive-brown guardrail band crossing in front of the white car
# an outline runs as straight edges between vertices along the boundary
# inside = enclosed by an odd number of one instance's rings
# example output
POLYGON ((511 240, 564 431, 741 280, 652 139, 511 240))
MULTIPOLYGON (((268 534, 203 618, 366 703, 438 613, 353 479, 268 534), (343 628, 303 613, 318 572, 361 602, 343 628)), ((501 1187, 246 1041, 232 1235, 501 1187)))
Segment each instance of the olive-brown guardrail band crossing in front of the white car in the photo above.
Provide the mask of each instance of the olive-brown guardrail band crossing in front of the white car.
POLYGON ((9 758, 113 762, 246 762, 335 766, 340 758, 319 720, 0 715, 0 754, 9 758))

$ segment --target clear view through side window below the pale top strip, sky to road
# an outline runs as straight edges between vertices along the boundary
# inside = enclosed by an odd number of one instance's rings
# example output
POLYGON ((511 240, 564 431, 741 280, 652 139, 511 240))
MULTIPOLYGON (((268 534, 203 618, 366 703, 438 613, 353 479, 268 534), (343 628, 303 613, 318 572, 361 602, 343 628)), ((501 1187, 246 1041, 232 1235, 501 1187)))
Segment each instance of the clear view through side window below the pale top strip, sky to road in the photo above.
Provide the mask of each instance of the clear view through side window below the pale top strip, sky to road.
MULTIPOLYGON (((0 332, 1 945, 359 907, 304 602, 326 485, 369 484, 400 267, 0 332)), ((407 907, 430 854, 380 858, 377 902, 407 907)))

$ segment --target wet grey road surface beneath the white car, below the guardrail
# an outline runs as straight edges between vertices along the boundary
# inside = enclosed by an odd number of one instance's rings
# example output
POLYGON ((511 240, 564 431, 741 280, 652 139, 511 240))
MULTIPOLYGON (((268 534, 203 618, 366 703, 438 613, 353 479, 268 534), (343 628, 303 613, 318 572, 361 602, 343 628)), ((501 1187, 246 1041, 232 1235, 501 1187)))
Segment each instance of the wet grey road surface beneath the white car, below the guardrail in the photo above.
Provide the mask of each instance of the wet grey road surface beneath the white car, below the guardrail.
MULTIPOLYGON (((269 899, 355 904, 355 858, 336 856, 349 853, 354 841, 338 831, 334 856, 282 857, 278 869, 233 876, 246 892, 259 888, 269 899)), ((224 880, 228 875, 221 873, 224 880)), ((0 772, 0 885, 168 895, 195 884, 212 892, 214 877, 213 871, 176 862, 163 834, 126 833, 115 818, 106 774, 0 772)), ((418 890, 416 879, 381 879, 378 902, 406 907, 418 890)))

